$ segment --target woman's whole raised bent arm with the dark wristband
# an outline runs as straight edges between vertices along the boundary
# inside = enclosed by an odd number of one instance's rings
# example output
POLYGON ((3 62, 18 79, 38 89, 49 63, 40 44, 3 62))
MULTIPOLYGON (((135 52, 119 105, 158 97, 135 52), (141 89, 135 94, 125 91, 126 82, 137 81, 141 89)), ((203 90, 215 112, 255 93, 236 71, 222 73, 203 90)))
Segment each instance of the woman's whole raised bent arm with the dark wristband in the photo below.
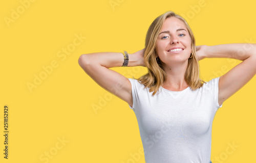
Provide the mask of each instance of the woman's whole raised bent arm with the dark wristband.
MULTIPOLYGON (((127 67, 144 66, 144 49, 129 54, 127 67)), ((78 64, 99 86, 133 106, 132 85, 128 78, 111 70, 121 67, 124 61, 121 52, 95 52, 81 55, 78 64)))

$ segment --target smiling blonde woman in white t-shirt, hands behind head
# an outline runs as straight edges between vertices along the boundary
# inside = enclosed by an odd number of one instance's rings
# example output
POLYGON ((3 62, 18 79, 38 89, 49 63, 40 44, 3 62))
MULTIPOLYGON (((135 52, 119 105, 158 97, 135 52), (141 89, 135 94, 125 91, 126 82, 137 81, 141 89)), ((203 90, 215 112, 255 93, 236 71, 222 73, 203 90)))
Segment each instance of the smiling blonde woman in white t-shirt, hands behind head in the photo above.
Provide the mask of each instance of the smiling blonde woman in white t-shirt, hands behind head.
POLYGON ((81 55, 78 63, 97 84, 126 101, 135 112, 147 163, 208 163, 214 116, 223 102, 255 75, 256 45, 196 46, 187 22, 169 11, 151 24, 144 49, 129 54, 90 53, 81 55), (239 52, 241 49, 245 52, 239 52), (198 65, 203 58, 243 62, 204 82, 198 65), (148 73, 135 79, 109 69, 120 66, 145 66, 148 73))

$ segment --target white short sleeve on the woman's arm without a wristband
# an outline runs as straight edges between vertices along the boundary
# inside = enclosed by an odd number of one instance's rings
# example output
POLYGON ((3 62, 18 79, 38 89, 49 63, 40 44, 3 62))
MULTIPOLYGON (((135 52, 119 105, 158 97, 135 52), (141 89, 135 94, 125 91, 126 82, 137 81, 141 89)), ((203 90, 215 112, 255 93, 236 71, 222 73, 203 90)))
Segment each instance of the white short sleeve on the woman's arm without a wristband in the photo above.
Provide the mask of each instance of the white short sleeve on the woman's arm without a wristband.
POLYGON ((220 107, 222 107, 223 103, 219 105, 219 79, 220 77, 216 77, 211 79, 207 85, 208 89, 212 92, 212 95, 214 96, 214 104, 216 106, 216 110, 218 110, 220 107))

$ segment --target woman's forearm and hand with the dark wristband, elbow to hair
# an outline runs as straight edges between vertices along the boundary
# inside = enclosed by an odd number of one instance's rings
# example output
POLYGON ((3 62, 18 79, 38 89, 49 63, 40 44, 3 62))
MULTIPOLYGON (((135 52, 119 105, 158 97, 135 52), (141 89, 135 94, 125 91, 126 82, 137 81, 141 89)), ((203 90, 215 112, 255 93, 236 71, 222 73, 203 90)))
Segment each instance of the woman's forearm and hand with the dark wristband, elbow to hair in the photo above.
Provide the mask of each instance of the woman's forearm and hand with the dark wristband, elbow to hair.
MULTIPOLYGON (((127 67, 141 66, 141 59, 134 53, 128 53, 129 62, 127 67)), ((106 68, 121 67, 124 62, 122 52, 94 52, 81 55, 78 62, 83 61, 83 64, 99 64, 106 68), (83 58, 83 59, 81 59, 83 58)), ((79 63, 79 65, 81 65, 79 63)))

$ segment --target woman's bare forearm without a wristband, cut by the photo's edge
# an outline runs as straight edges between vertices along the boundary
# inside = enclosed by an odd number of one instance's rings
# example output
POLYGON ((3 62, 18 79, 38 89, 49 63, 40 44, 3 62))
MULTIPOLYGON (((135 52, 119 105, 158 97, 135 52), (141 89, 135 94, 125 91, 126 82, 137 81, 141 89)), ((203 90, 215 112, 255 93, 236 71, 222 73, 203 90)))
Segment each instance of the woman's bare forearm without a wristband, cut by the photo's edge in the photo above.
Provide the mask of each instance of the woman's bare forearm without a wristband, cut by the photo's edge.
POLYGON ((244 61, 256 55, 256 44, 252 43, 232 43, 208 46, 205 58, 232 58, 244 61))

